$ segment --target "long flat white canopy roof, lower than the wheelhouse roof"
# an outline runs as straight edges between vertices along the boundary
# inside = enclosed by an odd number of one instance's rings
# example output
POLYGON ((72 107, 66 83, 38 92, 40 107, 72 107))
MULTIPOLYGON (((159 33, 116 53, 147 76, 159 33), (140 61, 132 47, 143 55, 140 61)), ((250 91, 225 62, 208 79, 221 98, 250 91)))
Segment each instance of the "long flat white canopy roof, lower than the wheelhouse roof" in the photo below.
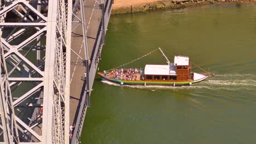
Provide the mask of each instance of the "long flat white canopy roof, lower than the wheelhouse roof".
POLYGON ((147 64, 144 69, 145 75, 176 75, 174 65, 147 64))

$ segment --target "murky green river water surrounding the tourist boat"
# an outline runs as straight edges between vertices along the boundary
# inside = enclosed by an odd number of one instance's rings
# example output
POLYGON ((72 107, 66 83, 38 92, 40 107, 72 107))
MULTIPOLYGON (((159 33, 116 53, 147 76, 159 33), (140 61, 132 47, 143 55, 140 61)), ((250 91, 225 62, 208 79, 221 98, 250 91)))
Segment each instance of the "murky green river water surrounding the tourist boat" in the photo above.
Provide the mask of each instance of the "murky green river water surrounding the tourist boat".
MULTIPOLYGON (((189 56, 216 76, 187 87, 117 86, 96 76, 82 143, 256 143, 256 5, 112 16, 100 71, 158 46, 171 62, 189 56)), ((145 64, 166 60, 156 51, 125 68, 145 64)))

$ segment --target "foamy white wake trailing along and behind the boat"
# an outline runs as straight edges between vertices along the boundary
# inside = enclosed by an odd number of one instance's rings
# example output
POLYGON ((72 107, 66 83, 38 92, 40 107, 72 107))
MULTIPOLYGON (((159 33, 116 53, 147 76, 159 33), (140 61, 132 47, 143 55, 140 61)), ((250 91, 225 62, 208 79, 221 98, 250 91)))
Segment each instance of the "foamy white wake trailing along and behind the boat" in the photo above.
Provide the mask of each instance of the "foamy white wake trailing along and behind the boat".
POLYGON ((119 86, 119 87, 132 87, 132 88, 143 88, 155 91, 155 89, 211 89, 211 90, 229 90, 236 91, 239 89, 255 89, 256 88, 256 75, 251 74, 223 74, 215 75, 213 78, 208 78, 205 81, 196 83, 192 86, 172 87, 172 86, 130 86, 130 85, 119 85, 118 83, 102 80, 103 83, 108 85, 119 86))

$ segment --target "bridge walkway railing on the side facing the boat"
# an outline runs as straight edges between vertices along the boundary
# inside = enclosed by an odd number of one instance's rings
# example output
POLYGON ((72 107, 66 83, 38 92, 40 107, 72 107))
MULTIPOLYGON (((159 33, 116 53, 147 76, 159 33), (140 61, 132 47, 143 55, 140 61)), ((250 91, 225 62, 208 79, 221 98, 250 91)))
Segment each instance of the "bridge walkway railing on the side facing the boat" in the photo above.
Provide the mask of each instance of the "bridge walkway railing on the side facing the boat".
MULTIPOLYGON (((103 37, 102 34, 106 34, 110 14, 112 11, 112 4, 114 0, 107 0, 105 5, 104 5, 104 31, 102 31, 102 21, 100 23, 100 26, 98 27, 98 33, 97 33, 97 38, 94 44, 94 48, 91 53, 91 64, 89 66, 89 89, 92 89, 92 85, 94 83, 94 78, 96 75, 97 67, 98 67, 98 62, 100 61, 100 56, 101 56, 101 50, 103 46, 103 37)), ((74 8, 73 12, 75 13, 75 10, 77 9, 77 5, 79 5, 79 1, 76 1, 74 3, 74 8)), ((79 143, 80 142, 80 135, 82 133, 83 129, 83 124, 84 124, 84 119, 86 115, 86 111, 88 106, 90 105, 90 94, 91 91, 86 90, 86 81, 84 81, 83 89, 82 89, 82 98, 80 99, 80 103, 78 105, 79 109, 77 109, 77 115, 75 116, 75 128, 73 132, 73 136, 71 139, 71 143, 79 143)))

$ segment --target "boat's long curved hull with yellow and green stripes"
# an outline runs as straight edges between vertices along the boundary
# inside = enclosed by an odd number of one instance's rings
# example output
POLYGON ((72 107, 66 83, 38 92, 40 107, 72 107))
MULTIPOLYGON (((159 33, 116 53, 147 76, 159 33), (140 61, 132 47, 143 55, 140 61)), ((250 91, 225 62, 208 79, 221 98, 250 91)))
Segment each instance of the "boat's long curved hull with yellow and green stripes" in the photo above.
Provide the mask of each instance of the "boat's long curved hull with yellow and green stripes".
POLYGON ((200 82, 205 80, 207 76, 203 77, 200 80, 196 81, 126 81, 126 80, 118 80, 118 79, 109 79, 108 77, 104 76, 103 73, 97 73, 103 79, 106 79, 110 82, 118 83, 120 85, 137 85, 137 86, 188 86, 193 85, 194 83, 200 82))

